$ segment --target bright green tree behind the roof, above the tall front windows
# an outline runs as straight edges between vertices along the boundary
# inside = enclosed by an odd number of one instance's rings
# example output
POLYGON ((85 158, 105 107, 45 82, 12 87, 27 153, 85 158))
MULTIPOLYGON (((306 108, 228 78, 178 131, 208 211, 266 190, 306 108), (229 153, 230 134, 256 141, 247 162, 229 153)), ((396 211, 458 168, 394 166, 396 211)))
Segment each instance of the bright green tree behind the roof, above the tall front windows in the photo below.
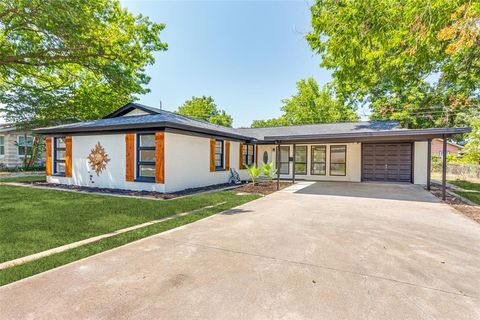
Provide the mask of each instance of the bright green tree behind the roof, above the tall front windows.
POLYGON ((336 99, 327 87, 321 90, 313 78, 297 82, 297 93, 291 98, 283 99, 279 118, 254 120, 252 128, 315 124, 337 121, 354 121, 358 119, 355 111, 336 99))

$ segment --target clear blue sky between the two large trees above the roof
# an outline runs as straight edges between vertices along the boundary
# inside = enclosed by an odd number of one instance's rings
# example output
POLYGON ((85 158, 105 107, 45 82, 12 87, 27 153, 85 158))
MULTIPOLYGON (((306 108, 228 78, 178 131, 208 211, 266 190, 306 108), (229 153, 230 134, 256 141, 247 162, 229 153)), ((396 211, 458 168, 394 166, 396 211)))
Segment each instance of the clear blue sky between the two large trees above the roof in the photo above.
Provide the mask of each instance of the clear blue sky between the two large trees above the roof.
POLYGON ((132 13, 166 24, 168 50, 146 70, 150 93, 140 103, 174 111, 192 96, 212 96, 234 127, 278 117, 295 83, 313 76, 331 80, 308 47, 309 0, 123 0, 132 13))

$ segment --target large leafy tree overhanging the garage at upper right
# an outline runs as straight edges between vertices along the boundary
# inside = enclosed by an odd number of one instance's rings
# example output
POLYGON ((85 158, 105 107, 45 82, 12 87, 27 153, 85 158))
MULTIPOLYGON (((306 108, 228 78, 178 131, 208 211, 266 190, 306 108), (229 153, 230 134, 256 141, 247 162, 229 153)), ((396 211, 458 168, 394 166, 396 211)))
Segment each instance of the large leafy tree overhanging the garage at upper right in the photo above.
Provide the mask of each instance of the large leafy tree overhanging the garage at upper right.
POLYGON ((335 91, 373 119, 460 125, 478 108, 480 3, 317 0, 307 36, 335 91))

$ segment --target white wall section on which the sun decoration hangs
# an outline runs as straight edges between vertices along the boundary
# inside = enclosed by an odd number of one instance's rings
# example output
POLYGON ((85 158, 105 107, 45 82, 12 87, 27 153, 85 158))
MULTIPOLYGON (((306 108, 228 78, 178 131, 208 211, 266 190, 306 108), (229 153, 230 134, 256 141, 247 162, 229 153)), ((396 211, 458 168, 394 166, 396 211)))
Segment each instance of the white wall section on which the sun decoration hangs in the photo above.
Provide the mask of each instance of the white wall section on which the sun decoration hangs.
MULTIPOLYGON (((52 152, 54 152, 53 143, 52 152)), ((84 187, 165 192, 163 184, 126 181, 125 162, 125 134, 72 136, 72 177, 50 176, 47 181, 84 187), (110 158, 106 169, 99 176, 90 168, 87 160, 98 142, 110 158)))

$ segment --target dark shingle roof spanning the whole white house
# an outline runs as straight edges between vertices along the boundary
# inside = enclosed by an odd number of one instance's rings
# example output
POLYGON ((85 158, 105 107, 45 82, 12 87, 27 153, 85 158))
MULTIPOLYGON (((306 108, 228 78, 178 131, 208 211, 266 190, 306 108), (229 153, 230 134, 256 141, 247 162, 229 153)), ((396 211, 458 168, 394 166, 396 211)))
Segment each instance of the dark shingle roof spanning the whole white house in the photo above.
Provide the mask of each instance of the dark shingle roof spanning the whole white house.
POLYGON ((470 128, 404 129, 397 121, 362 121, 322 123, 301 126, 269 128, 228 128, 173 112, 129 103, 104 119, 60 125, 35 130, 43 134, 71 134, 82 132, 126 131, 135 129, 174 128, 241 140, 301 141, 312 139, 362 138, 383 136, 441 137, 442 134, 470 132, 470 128), (147 115, 122 116, 133 109, 147 115))

